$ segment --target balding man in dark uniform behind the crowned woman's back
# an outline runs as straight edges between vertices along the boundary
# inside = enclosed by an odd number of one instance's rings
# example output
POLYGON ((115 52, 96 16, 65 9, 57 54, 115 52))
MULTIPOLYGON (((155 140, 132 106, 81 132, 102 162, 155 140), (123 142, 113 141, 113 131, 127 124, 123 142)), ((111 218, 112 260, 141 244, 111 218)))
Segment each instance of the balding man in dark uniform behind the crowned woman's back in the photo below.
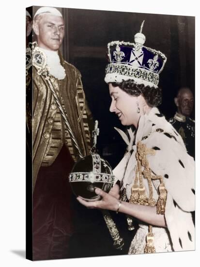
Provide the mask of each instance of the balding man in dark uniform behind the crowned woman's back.
POLYGON ((195 121, 190 118, 194 105, 192 91, 187 87, 180 88, 174 102, 177 112, 169 122, 183 138, 188 154, 195 158, 195 121))

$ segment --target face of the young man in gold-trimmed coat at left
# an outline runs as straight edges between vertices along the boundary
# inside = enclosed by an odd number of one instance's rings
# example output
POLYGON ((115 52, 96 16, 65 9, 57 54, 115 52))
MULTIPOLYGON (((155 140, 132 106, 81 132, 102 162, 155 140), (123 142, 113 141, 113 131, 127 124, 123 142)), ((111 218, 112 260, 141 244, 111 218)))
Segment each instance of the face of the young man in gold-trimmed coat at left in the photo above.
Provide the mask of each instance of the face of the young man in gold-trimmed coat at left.
POLYGON ((39 47, 57 51, 64 37, 63 18, 52 14, 43 14, 36 21, 34 32, 37 35, 39 47))

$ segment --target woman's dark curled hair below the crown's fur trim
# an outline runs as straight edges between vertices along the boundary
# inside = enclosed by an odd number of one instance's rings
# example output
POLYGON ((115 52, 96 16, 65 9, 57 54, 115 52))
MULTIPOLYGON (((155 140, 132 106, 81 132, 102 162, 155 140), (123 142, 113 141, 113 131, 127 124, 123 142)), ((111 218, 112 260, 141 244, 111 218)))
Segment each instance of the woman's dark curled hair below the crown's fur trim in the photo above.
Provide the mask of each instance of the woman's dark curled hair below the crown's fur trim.
POLYGON ((119 86, 124 92, 131 96, 138 97, 140 94, 144 97, 146 100, 147 104, 150 107, 157 107, 161 104, 162 102, 162 92, 161 88, 155 88, 155 87, 150 87, 144 86, 144 84, 137 84, 134 82, 134 80, 127 80, 127 81, 122 81, 121 83, 111 83, 112 86, 116 87, 119 86))

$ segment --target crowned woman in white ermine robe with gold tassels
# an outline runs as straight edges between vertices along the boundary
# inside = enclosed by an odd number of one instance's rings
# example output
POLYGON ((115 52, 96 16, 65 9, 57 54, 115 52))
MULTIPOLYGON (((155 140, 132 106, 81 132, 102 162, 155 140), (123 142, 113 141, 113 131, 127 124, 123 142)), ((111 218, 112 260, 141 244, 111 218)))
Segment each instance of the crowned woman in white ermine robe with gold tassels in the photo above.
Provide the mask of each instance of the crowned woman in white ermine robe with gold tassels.
POLYGON ((135 43, 108 44, 105 81, 110 112, 129 127, 128 136, 116 129, 127 150, 113 170, 115 185, 109 193, 95 188, 101 200, 77 200, 88 208, 121 212, 139 220, 129 254, 194 250, 194 159, 156 108, 162 98, 159 75, 167 58, 144 46, 142 27, 135 43))

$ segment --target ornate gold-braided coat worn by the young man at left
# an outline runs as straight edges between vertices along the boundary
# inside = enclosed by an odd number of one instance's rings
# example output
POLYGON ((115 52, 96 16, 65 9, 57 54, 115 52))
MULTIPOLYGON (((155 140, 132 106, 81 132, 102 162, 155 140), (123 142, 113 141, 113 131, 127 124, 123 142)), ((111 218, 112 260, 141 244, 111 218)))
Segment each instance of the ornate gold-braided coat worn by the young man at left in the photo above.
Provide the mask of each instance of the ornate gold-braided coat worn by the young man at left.
MULTIPOLYGON (((77 139, 77 143, 83 155, 90 150, 90 132, 85 109, 85 95, 81 83, 81 75, 76 67, 67 63, 60 56, 61 65, 65 69, 66 76, 63 80, 52 78, 53 86, 62 96, 62 103, 67 113, 69 123, 77 139)), ((39 168, 42 165, 46 150, 51 140, 53 121, 58 113, 54 97, 48 88, 48 84, 42 75, 38 75, 37 69, 32 67, 32 161, 33 161, 33 188, 35 186, 39 168)), ((77 150, 71 138, 65 138, 65 126, 62 121, 62 142, 68 147, 73 159, 77 160, 77 150)), ((62 147, 62 146, 61 146, 62 147)), ((60 147, 60 149, 61 149, 60 147)), ((58 151, 59 152, 59 151, 58 151)), ((52 155, 51 163, 57 157, 52 155)))

